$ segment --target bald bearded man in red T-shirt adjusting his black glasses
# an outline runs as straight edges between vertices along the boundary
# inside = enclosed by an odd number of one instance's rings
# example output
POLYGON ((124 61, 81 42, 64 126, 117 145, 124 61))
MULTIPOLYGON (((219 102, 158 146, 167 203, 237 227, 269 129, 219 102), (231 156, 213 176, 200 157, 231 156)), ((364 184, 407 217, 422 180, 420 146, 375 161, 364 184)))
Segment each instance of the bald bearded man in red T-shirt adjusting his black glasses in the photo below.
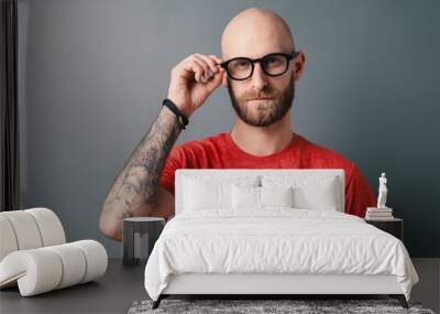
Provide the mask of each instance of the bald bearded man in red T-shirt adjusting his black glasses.
POLYGON ((165 105, 107 195, 100 230, 121 241, 124 217, 173 216, 177 169, 343 169, 345 212, 364 217, 375 197, 358 166, 293 131, 306 57, 287 23, 268 10, 245 10, 224 29, 221 50, 221 58, 195 53, 173 68, 165 105), (185 118, 221 85, 237 113, 232 130, 174 145, 185 118))

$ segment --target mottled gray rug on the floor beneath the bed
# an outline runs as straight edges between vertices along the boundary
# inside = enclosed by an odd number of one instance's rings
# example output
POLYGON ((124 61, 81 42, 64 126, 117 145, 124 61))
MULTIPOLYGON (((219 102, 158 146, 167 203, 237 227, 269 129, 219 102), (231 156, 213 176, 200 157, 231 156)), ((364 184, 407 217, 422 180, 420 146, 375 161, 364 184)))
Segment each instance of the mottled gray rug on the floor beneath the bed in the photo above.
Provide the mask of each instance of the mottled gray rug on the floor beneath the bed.
POLYGON ((129 314, 146 313, 429 313, 419 302, 408 302, 409 308, 403 308, 397 300, 162 300, 161 305, 152 310, 153 301, 136 301, 129 314))

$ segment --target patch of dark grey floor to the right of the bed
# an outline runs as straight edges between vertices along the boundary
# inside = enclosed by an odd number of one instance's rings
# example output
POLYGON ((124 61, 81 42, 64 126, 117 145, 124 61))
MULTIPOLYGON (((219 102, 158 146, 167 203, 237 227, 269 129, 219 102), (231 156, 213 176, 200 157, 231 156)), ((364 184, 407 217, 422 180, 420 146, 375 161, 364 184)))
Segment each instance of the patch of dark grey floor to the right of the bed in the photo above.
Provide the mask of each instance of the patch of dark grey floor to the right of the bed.
POLYGON ((414 258, 420 281, 414 286, 411 300, 440 313, 440 258, 414 258))

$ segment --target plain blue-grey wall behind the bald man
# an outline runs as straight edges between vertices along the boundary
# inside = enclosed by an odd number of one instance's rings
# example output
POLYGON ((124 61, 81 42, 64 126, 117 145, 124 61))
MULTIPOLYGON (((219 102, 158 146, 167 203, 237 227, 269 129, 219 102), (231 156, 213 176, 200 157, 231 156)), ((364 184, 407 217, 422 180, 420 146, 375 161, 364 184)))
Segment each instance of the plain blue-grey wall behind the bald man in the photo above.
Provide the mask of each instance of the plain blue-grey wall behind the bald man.
MULTIPOLYGON (((227 22, 278 12, 307 57, 294 129, 354 161, 405 219, 413 257, 440 257, 438 1, 19 0, 22 207, 46 206, 68 240, 94 238, 114 177, 155 120, 170 68, 220 55, 227 22)), ((230 130, 217 90, 177 143, 230 130)))

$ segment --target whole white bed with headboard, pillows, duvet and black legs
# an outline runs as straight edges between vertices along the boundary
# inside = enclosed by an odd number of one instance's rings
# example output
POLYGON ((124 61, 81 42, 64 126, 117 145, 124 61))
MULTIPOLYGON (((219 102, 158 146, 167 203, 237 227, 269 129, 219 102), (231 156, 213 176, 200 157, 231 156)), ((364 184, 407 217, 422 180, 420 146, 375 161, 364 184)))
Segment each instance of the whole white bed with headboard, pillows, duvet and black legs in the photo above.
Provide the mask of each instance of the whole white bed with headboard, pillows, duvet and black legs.
POLYGON ((344 213, 343 170, 177 170, 175 216, 145 266, 169 295, 387 294, 419 280, 404 243, 344 213))

